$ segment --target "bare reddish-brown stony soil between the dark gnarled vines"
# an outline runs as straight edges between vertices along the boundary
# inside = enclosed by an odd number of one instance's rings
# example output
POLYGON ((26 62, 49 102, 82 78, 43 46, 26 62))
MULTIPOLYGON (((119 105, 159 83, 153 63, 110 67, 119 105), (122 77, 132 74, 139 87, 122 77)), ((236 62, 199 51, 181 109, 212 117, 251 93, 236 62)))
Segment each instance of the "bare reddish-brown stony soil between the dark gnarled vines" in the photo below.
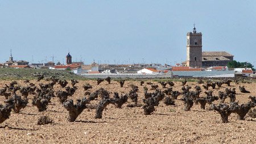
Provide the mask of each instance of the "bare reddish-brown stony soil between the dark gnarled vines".
MULTIPOLYGON (((31 81, 39 84, 39 82, 31 81)), ((47 83, 46 81, 43 81, 47 83)), ((10 81, 1 81, 0 87, 10 81)), ((23 85, 23 81, 18 81, 23 85)), ((76 100, 84 96, 82 85, 90 83, 95 91, 100 87, 110 92, 126 94, 133 83, 139 86, 139 82, 126 81, 123 88, 119 83, 112 81, 111 84, 104 81, 96 86, 96 81, 80 81, 76 86, 76 91, 70 99, 76 100)), ((159 84, 157 82, 152 82, 159 84)), ((174 90, 181 91, 181 82, 174 82, 174 90)), ((192 89, 197 84, 188 82, 192 89)), ((232 83, 232 88, 236 87, 237 100, 239 103, 249 101, 250 95, 255 95, 256 83, 241 84, 249 90, 251 94, 242 94, 238 85, 232 83)), ((71 86, 70 81, 68 86, 71 86)), ((150 85, 144 84, 150 88, 150 85)), ((139 86, 139 103, 142 103, 143 86, 139 86)), ((162 86, 159 87, 162 88, 162 86)), ((168 87, 168 86, 167 86, 168 87)), ((227 87, 226 84, 223 87, 227 87)), ((203 87, 201 87, 203 89, 203 87)), ((64 90, 59 84, 55 85, 55 90, 64 90)), ((205 90, 203 90, 205 91, 205 90)), ((217 95, 219 90, 214 90, 217 95)), ((224 91, 224 88, 221 88, 224 91)), ((18 92, 19 94, 19 92, 18 92)), ((203 92, 201 94, 204 95, 203 92)), ((111 94, 113 96, 113 94, 111 94)), ((121 109, 114 105, 108 105, 104 110, 101 119, 95 119, 95 109, 85 109, 75 122, 68 122, 68 111, 59 103, 58 99, 52 98, 46 112, 38 112, 38 109, 31 104, 32 95, 28 106, 20 113, 11 113, 8 120, 0 124, 1 143, 256 143, 256 120, 246 116, 245 120, 238 120, 237 115, 232 113, 229 122, 221 123, 221 117, 216 111, 200 109, 200 105, 193 105, 191 111, 183 111, 183 102, 175 100, 175 106, 166 106, 160 101, 156 112, 152 115, 143 115, 141 107, 128 108, 124 104, 121 109), (47 115, 53 119, 53 124, 37 125, 40 116, 47 115)), ((1 96, 0 103, 3 104, 4 97, 1 96)), ((229 98, 226 99, 229 101, 229 98)), ((97 104, 98 100, 92 101, 97 104)), ((215 102, 217 103, 217 101, 215 102)))

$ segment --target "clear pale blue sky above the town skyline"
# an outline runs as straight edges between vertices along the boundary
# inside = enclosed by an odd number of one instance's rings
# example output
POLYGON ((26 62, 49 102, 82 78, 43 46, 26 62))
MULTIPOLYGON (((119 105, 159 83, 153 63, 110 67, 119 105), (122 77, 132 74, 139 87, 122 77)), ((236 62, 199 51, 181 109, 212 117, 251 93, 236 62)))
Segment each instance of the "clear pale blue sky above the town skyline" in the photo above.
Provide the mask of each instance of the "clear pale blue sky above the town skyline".
POLYGON ((256 64, 256 1, 1 1, 0 62, 185 61, 186 34, 203 33, 203 51, 225 50, 256 64))

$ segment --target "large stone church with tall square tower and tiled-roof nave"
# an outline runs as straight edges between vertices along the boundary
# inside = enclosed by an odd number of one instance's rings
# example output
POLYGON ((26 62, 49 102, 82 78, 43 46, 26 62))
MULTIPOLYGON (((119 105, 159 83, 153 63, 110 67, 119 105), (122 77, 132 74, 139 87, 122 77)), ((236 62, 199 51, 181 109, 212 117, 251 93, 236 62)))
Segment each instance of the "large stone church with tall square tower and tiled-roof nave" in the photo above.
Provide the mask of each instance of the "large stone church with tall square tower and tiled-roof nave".
POLYGON ((228 52, 202 52, 202 46, 202 33, 196 32, 194 25, 193 32, 187 33, 187 61, 183 66, 226 66, 233 61, 234 56, 228 52))

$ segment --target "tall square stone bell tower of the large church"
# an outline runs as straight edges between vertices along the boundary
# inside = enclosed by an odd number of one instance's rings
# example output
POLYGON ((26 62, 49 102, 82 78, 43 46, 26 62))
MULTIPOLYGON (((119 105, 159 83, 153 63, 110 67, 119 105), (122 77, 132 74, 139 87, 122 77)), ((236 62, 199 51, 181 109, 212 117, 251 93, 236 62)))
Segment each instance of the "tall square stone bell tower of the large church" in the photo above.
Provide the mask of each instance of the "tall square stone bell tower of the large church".
POLYGON ((202 66, 202 33, 196 32, 195 24, 193 32, 187 33, 187 66, 202 66))

